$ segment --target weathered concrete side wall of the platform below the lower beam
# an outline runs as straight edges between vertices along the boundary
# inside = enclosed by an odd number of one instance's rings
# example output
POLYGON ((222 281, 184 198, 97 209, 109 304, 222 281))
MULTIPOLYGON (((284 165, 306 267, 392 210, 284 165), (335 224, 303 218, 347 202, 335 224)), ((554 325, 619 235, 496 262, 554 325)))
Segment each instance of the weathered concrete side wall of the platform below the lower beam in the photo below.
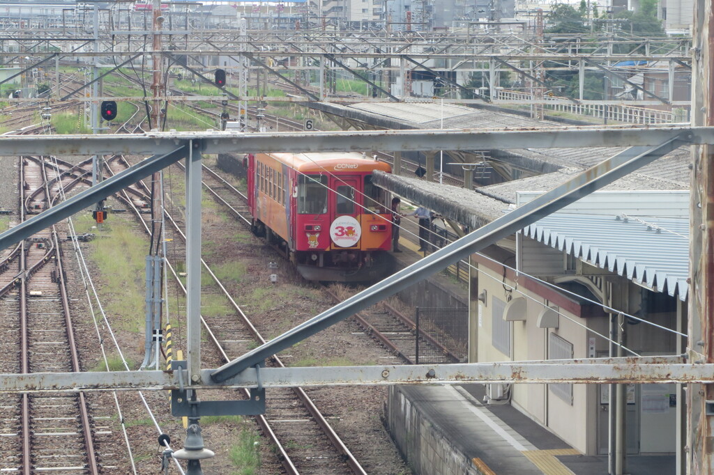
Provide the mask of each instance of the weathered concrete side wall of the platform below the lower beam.
POLYGON ((385 419, 397 449, 417 475, 481 475, 468 459, 419 410, 399 386, 389 387, 385 419))

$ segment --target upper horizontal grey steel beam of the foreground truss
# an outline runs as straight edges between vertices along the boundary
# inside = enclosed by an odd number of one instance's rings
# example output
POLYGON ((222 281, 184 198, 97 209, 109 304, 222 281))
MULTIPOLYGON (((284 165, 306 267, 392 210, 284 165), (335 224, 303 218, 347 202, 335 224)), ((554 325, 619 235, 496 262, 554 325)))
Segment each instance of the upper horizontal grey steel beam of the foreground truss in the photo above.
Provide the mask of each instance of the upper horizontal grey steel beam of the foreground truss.
POLYGON ((549 128, 542 131, 483 129, 365 132, 147 132, 103 136, 0 136, 3 155, 160 155, 184 141, 197 141, 201 153, 504 150, 659 145, 672 138, 688 144, 714 144, 714 127, 549 128))

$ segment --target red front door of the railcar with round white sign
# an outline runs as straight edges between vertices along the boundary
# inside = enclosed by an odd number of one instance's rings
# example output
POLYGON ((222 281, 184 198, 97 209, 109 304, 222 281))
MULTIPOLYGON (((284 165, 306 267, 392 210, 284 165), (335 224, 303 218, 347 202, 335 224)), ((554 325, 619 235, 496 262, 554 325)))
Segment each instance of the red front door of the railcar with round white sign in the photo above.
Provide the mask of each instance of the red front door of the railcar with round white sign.
POLYGON ((330 237, 333 248, 359 247, 362 228, 360 225, 361 195, 356 177, 333 177, 330 186, 333 220, 330 237))

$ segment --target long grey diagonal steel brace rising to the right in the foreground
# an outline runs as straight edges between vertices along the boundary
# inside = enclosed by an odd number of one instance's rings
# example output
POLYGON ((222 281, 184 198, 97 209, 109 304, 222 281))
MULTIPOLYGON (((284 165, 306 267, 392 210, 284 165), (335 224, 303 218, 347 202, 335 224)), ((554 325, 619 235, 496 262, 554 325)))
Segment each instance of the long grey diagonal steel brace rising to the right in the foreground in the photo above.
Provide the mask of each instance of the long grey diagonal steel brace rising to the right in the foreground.
MULTIPOLYGON (((291 347, 293 344, 351 317, 366 307, 426 279, 426 277, 448 265, 468 258, 468 256, 483 250, 483 248, 503 239, 503 237, 512 235, 516 231, 540 220, 540 218, 554 213, 570 203, 574 203, 579 198, 603 188, 603 186, 648 163, 652 163, 680 145, 683 145, 683 142, 679 137, 675 137, 651 148, 628 148, 618 153, 618 155, 608 158, 593 168, 580 173, 580 175, 548 191, 548 193, 543 193, 543 195, 526 203, 521 208, 517 208, 511 213, 493 220, 482 228, 473 231, 473 233, 446 245, 446 247, 424 257, 422 260, 396 272, 396 274, 386 277, 376 285, 349 297, 347 300, 303 322, 292 330, 288 330, 270 342, 262 344, 256 349, 243 354, 243 356, 223 364, 222 367, 211 374, 211 378, 216 382, 225 381, 248 367, 262 364, 273 354, 281 352, 283 349, 291 347)), ((463 148, 458 149, 463 150, 463 148)))

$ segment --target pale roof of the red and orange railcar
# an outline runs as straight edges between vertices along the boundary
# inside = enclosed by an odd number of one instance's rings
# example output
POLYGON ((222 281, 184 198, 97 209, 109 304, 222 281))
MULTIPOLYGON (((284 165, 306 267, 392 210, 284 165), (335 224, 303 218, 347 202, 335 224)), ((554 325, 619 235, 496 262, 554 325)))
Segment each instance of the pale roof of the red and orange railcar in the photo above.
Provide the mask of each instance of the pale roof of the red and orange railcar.
POLYGON ((388 163, 368 158, 357 152, 268 153, 267 155, 301 173, 371 172, 372 170, 390 173, 392 170, 388 163))

